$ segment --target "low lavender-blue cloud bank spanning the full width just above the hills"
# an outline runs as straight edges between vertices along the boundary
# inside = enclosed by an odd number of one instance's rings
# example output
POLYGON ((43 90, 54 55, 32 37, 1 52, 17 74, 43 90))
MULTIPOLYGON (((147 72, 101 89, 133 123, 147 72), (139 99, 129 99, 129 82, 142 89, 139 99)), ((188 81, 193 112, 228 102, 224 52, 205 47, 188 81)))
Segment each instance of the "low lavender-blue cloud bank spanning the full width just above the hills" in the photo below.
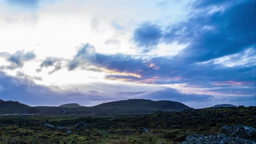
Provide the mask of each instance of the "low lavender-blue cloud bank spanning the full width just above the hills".
MULTIPOLYGON (((22 75, 22 74, 21 74, 22 75)), ((98 87, 96 90, 82 92, 79 89, 62 89, 56 86, 46 87, 37 85, 30 79, 30 76, 13 77, 8 76, 0 71, 0 99, 4 100, 18 100, 21 103, 28 105, 60 105, 65 103, 79 103, 82 105, 96 105, 108 101, 124 100, 131 98, 143 98, 152 100, 172 100, 182 103, 204 104, 207 106, 212 101, 219 101, 218 98, 208 94, 184 94, 173 88, 164 88, 156 91, 149 91, 145 87, 137 88, 141 91, 121 91, 120 89, 129 89, 129 85, 115 85, 115 92, 104 91, 101 93, 102 88, 112 88, 113 85, 105 85, 103 83, 95 83, 98 87), (117 97, 119 95, 119 97, 117 97)), ((94 87, 90 85, 90 87, 94 87)), ((84 86, 81 86, 84 89, 84 86)), ((225 102, 236 103, 237 105, 253 105, 255 99, 253 96, 249 97, 236 97, 229 96, 222 98, 225 102), (240 102, 239 102, 240 101, 240 102)), ((219 103, 218 102, 218 103, 219 103)), ((254 103, 255 105, 255 103, 254 103)), ((191 106, 191 105, 190 105, 191 106)))

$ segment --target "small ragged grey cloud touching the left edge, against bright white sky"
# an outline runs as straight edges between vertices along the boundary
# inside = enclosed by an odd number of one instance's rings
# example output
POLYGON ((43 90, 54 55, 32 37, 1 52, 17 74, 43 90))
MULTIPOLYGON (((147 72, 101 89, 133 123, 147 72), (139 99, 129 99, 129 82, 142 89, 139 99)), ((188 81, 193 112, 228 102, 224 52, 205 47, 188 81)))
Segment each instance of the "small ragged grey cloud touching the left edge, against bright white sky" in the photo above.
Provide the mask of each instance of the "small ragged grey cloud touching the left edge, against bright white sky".
POLYGON ((31 61, 32 59, 36 58, 36 54, 34 54, 33 51, 25 52, 24 50, 22 50, 16 51, 15 53, 13 53, 13 55, 7 52, 1 52, 0 57, 4 57, 7 62, 11 63, 11 65, 0 66, 0 69, 16 69, 22 68, 25 62, 31 61))

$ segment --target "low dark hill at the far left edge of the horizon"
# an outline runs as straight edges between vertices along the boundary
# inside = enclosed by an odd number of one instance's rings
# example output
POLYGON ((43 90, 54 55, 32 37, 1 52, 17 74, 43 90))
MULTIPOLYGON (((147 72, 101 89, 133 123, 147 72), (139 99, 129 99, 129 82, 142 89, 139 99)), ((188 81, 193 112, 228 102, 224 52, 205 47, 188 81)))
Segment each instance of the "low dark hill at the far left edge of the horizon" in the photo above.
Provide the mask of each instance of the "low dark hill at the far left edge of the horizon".
POLYGON ((38 113, 38 110, 34 107, 21 104, 18 101, 0 101, 0 114, 30 114, 38 113))

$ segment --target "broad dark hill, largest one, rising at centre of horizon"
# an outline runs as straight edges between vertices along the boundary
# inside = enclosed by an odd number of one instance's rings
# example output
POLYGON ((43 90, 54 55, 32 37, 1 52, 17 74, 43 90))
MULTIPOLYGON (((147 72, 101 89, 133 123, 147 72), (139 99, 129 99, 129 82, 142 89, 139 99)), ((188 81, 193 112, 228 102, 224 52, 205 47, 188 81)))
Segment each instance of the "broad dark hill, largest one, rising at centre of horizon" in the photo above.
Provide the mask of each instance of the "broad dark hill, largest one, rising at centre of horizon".
POLYGON ((189 106, 176 101, 153 101, 148 99, 129 99, 112 101, 91 107, 68 108, 66 114, 139 114, 156 111, 180 111, 191 109, 189 106))

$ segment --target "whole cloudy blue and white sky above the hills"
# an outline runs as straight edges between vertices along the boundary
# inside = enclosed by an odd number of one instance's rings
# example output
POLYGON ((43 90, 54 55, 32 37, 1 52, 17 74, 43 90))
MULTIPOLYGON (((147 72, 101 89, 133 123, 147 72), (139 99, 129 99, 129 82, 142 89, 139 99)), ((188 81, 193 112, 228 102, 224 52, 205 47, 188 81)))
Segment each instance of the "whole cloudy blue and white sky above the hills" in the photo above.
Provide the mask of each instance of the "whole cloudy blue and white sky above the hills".
POLYGON ((256 1, 0 1, 0 99, 256 105, 256 1))

